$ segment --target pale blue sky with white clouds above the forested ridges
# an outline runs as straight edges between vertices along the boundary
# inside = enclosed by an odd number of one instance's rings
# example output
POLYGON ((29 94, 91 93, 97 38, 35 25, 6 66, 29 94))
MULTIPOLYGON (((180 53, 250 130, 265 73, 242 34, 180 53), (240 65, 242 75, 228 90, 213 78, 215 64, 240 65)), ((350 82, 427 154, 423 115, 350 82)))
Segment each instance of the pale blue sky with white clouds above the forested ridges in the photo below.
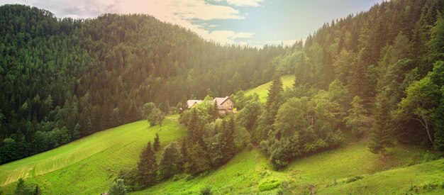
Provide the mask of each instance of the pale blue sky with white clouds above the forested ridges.
POLYGON ((0 0, 46 9, 57 18, 146 13, 221 44, 292 45, 323 23, 384 0, 0 0))

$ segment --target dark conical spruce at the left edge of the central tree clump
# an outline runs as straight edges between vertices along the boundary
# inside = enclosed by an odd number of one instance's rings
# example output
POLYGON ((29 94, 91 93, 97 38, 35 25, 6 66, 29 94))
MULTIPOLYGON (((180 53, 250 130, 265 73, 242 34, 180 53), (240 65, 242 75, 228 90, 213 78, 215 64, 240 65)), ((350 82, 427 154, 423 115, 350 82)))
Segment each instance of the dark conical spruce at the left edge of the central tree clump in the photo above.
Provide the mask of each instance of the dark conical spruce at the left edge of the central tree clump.
POLYGON ((140 154, 140 162, 138 163, 138 176, 140 186, 152 186, 156 182, 157 163, 154 150, 152 150, 151 142, 148 142, 145 149, 140 154))

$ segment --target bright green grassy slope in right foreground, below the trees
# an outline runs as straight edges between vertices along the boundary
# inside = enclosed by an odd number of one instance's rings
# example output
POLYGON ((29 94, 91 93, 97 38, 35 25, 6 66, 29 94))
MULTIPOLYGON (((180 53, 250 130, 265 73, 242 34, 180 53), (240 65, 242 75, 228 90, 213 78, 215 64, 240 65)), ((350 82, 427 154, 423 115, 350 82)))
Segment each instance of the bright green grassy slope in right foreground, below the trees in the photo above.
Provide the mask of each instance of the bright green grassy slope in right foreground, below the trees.
MULTIPOLYGON (((382 162, 379 155, 368 152, 367 142, 361 141, 296 160, 287 169, 273 171, 259 151, 243 151, 227 165, 206 175, 189 181, 182 175, 134 194, 196 194, 205 186, 211 186, 216 194, 275 194, 282 183, 289 186, 292 194, 306 194, 311 185, 318 194, 399 194, 409 192, 410 181, 421 185, 444 179, 444 160, 406 167, 412 157, 423 152, 399 145, 389 150, 388 159, 382 162), (345 182, 356 175, 364 178, 345 182), (277 188, 260 191, 260 186, 267 182, 277 184, 277 188)), ((444 193, 444 189, 431 192, 444 193)))

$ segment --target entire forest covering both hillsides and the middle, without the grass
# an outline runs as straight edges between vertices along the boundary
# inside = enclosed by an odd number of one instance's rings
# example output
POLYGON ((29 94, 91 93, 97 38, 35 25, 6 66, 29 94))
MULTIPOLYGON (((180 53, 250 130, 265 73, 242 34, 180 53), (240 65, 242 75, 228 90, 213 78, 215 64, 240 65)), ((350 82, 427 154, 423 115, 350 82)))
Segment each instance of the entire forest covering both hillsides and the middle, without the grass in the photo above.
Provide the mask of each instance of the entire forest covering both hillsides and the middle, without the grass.
POLYGON ((140 181, 121 176, 126 185, 200 174, 247 145, 282 169, 340 147, 345 134, 369 139, 382 160, 398 143, 444 150, 443 11, 444 1, 383 2, 292 47, 257 49, 205 41, 147 15, 73 20, 1 6, 0 163, 140 120, 148 102, 168 113, 204 97, 181 111, 188 138, 168 145, 159 163, 148 143, 131 170, 140 181), (292 88, 285 74, 294 74, 292 88), (270 80, 265 104, 241 91, 270 80), (238 113, 218 118, 211 99, 229 94, 238 113))

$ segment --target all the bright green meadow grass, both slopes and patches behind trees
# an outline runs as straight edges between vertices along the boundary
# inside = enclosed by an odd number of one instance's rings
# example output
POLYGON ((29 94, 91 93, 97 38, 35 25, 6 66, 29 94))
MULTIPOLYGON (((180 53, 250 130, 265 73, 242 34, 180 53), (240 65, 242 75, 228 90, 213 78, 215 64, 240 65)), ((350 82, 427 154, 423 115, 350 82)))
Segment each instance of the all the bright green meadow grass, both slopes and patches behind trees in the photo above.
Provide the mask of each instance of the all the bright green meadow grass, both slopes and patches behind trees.
MULTIPOLYGON (((282 77, 291 87, 294 77, 282 77)), ((266 100, 270 83, 250 89, 266 100)), ((45 194, 99 194, 108 191, 123 167, 135 167, 142 147, 160 134, 161 146, 187 134, 178 116, 167 116, 162 128, 138 121, 104 130, 23 160, 0 165, 0 191, 11 194, 16 180, 39 184, 45 194)), ((348 133, 346 133, 348 134, 348 133)), ((444 194, 443 153, 396 145, 380 160, 366 140, 348 140, 334 150, 294 160, 274 171, 253 147, 226 165, 198 177, 179 174, 132 194, 199 194, 210 186, 215 194, 444 194), (438 159, 438 160, 436 160, 438 159)))

